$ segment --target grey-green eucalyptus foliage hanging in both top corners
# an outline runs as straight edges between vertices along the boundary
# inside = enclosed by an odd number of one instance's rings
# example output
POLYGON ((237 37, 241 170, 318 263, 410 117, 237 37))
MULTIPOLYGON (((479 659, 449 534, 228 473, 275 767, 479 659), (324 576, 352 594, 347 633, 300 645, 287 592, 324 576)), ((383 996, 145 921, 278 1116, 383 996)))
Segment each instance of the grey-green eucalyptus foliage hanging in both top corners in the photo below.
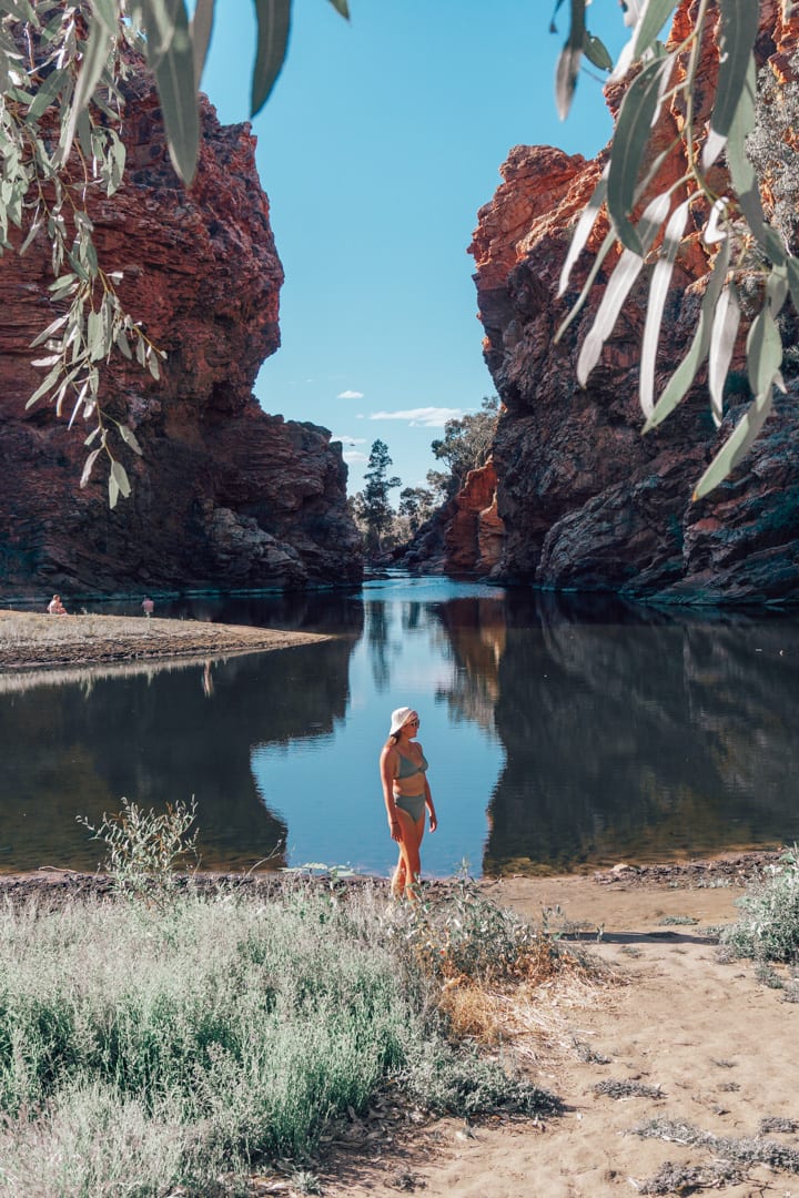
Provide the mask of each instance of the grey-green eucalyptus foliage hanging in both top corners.
MULTIPOLYGON (((331 2, 349 16, 346 0, 331 2)), ((582 56, 600 68, 612 67, 607 50, 586 28, 587 2, 570 0, 569 5, 569 35, 556 73, 556 101, 563 116, 582 56)), ((265 103, 283 66, 291 0, 254 4, 258 49, 253 114, 265 103)), ((562 4, 556 0, 556 13, 562 4)), ((791 2, 782 4, 787 13, 791 2)), ((664 46, 658 35, 676 7, 676 0, 622 0, 631 37, 615 77, 631 81, 607 165, 577 222, 561 294, 600 210, 606 212, 611 228, 561 333, 581 309, 603 262, 618 244, 621 256, 577 363, 579 381, 585 383, 634 282, 643 266, 654 261, 641 361, 644 431, 673 411, 706 359, 712 411, 720 422, 724 382, 740 320, 738 290, 744 272, 751 273, 752 250, 757 252, 763 289, 746 343, 755 399, 698 482, 695 494, 700 496, 721 482, 746 453, 771 410, 774 387, 783 386, 777 317, 788 295, 799 311, 799 259, 769 224, 746 155, 746 138, 755 125, 753 48, 761 5, 756 0, 695 0, 694 25, 685 40, 664 46), (696 101, 700 49, 712 36, 720 43, 721 55, 706 127, 697 120, 696 101), (653 157, 652 128, 666 104, 682 109, 682 125, 672 144, 653 157), (716 170, 722 153, 725 173, 716 170), (713 266, 696 335, 655 400, 660 320, 689 217, 704 225, 713 266)), ((135 319, 122 310, 115 290, 119 274, 97 260, 86 199, 98 188, 113 195, 125 171, 121 83, 128 69, 123 49, 129 46, 144 55, 153 75, 175 170, 184 182, 192 181, 200 139, 198 89, 213 16, 214 0, 196 0, 192 20, 186 0, 0 0, 1 246, 24 253, 41 234, 53 248, 50 300, 56 314, 35 343, 44 345, 36 364, 48 373, 29 404, 47 398, 59 415, 69 413, 71 420, 80 416, 95 420, 87 441, 96 444, 86 459, 81 483, 85 485, 96 459, 103 454, 110 466, 111 506, 119 495, 129 494, 125 468, 114 458, 113 435, 116 432, 134 452, 139 447, 132 429, 113 420, 103 409, 102 367, 115 352, 135 356, 157 379, 163 353, 149 341, 135 319)))

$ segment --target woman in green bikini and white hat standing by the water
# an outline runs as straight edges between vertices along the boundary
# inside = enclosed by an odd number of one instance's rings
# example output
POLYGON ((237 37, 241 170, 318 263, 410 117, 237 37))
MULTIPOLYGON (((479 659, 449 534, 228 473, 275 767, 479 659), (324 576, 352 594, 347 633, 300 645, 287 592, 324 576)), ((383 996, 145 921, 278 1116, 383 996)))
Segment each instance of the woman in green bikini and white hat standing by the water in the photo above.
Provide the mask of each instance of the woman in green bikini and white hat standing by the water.
POLYGON ((438 821, 426 779, 428 762, 416 739, 419 716, 411 707, 392 712, 388 740, 380 755, 380 776, 392 840, 399 845, 399 861, 392 878, 392 894, 413 895, 422 873, 419 846, 424 836, 424 809, 430 815, 430 831, 438 821))

